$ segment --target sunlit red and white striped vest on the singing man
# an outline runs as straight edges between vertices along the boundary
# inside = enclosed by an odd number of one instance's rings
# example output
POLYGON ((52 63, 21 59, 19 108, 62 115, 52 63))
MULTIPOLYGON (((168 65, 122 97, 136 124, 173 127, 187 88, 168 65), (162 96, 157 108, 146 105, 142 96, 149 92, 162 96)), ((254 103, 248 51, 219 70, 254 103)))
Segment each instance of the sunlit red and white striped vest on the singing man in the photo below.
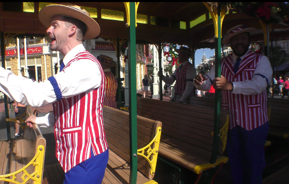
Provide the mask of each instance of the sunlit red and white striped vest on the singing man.
POLYGON ((56 157, 64 172, 90 158, 92 154, 90 148, 94 155, 108 149, 103 127, 105 76, 100 63, 91 53, 84 51, 78 53, 67 63, 63 71, 71 63, 80 59, 89 59, 91 62, 95 62, 102 80, 97 89, 70 98, 62 98, 53 103, 56 157))

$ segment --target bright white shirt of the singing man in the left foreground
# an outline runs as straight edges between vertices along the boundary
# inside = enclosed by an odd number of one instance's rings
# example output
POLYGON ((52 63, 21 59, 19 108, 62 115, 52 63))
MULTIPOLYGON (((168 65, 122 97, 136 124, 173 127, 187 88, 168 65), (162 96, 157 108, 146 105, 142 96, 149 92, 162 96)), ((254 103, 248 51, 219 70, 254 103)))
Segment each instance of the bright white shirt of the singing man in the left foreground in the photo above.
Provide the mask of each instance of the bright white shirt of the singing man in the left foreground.
MULTIPOLYGON (((64 64, 66 65, 74 56, 83 51, 85 48, 82 44, 74 47, 63 58, 64 64)), ((98 88, 101 74, 94 62, 89 59, 81 59, 73 62, 65 71, 55 74, 55 79, 62 97, 68 98, 98 88)), ((16 102, 32 107, 42 107, 56 101, 56 95, 49 80, 40 83, 33 82, 23 76, 16 76, 12 71, 2 67, 0 67, 0 91, 16 102)), ((54 115, 49 114, 36 118, 36 123, 53 126, 54 115), (40 119, 41 121, 39 121, 40 119), (53 121, 51 122, 49 119, 53 119, 53 121)))

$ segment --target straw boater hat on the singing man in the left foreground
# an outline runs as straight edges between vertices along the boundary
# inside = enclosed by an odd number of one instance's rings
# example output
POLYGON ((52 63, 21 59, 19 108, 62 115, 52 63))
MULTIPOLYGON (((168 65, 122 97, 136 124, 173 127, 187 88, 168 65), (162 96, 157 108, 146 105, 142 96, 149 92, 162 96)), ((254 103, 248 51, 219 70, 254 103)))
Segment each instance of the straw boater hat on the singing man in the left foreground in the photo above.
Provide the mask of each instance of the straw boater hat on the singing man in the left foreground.
POLYGON ((83 35, 83 39, 85 40, 95 38, 100 33, 98 23, 90 17, 90 14, 85 9, 81 8, 80 6, 70 3, 45 6, 39 12, 39 20, 44 26, 50 27, 51 19, 55 15, 72 17, 85 23, 87 27, 86 33, 83 35))

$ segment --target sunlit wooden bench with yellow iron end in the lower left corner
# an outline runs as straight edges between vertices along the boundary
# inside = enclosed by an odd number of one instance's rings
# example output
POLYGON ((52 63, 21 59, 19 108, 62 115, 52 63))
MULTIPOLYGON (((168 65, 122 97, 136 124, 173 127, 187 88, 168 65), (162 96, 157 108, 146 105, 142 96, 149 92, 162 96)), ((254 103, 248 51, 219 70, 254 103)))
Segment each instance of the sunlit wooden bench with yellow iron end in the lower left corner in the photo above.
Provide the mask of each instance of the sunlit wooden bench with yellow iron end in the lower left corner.
MULTIPOLYGON (((26 118, 33 115, 27 106, 26 118)), ((0 141, 0 184, 42 183, 46 141, 38 125, 24 125, 23 137, 0 141)))

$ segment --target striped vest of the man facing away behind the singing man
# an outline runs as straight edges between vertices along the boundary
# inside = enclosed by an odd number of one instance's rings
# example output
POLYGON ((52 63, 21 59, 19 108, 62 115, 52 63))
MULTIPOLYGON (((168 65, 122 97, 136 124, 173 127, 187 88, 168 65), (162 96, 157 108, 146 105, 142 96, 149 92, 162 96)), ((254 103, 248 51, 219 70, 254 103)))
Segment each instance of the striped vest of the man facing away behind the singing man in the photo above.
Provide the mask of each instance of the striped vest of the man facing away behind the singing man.
POLYGON ((118 80, 115 78, 111 71, 105 71, 105 96, 103 105, 108 107, 117 108, 115 97, 116 90, 118 89, 118 80))

